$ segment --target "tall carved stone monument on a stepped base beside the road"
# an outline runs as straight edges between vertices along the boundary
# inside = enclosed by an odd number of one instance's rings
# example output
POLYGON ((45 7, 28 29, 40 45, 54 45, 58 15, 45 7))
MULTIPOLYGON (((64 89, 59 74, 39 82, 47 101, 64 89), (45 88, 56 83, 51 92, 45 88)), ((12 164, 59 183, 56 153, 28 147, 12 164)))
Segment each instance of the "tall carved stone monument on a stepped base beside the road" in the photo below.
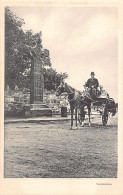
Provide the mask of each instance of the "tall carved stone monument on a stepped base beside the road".
POLYGON ((41 38, 39 36, 37 39, 36 46, 29 52, 29 56, 31 59, 29 114, 31 117, 52 116, 52 110, 43 103, 43 52, 44 50, 41 47, 41 38))

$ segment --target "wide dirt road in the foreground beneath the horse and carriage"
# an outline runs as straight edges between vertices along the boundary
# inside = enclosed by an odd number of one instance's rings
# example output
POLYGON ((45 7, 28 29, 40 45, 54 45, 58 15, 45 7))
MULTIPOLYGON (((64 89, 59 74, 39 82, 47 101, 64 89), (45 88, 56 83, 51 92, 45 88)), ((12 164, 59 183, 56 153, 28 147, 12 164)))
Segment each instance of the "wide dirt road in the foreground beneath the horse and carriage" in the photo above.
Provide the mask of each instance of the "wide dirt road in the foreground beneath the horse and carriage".
POLYGON ((4 176, 117 177, 117 117, 69 130, 70 121, 5 124, 4 176))

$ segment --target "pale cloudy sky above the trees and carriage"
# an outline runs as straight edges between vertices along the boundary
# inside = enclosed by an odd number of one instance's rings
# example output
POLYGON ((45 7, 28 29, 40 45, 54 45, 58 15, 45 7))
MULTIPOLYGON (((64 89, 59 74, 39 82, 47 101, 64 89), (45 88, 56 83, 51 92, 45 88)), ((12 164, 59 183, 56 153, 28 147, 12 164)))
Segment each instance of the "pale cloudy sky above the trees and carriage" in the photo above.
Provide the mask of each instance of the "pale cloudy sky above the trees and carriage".
POLYGON ((118 13, 113 7, 10 7, 24 30, 42 32, 52 67, 67 72, 66 82, 83 90, 90 73, 118 99, 118 13))

